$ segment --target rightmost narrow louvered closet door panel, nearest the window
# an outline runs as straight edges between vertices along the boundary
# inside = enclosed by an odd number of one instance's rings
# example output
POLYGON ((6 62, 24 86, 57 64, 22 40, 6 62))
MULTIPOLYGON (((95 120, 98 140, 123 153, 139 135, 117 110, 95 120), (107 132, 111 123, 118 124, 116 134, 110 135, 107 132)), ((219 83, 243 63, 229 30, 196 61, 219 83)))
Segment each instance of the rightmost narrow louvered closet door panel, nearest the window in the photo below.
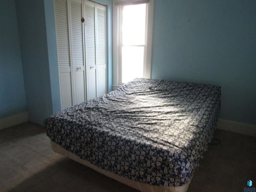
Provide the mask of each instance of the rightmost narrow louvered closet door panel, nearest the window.
POLYGON ((106 93, 106 6, 96 4, 97 97, 106 93))

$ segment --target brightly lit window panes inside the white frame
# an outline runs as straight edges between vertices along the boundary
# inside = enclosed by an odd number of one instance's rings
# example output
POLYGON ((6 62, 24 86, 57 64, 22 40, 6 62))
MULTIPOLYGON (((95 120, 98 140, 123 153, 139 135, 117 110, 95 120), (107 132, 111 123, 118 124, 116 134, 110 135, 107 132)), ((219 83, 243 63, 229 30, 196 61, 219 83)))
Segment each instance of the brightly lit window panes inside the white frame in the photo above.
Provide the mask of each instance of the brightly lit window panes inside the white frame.
POLYGON ((121 9, 121 82, 143 77, 146 4, 123 6, 121 9))

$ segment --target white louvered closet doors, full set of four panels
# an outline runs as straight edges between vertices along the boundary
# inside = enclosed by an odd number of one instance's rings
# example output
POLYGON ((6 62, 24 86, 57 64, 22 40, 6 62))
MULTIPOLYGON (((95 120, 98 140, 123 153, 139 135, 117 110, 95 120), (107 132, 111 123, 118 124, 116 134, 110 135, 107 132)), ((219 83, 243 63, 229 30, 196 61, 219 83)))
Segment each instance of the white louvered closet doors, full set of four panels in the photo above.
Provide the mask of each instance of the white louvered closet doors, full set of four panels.
POLYGON ((106 6, 54 0, 62 110, 106 93, 106 6))

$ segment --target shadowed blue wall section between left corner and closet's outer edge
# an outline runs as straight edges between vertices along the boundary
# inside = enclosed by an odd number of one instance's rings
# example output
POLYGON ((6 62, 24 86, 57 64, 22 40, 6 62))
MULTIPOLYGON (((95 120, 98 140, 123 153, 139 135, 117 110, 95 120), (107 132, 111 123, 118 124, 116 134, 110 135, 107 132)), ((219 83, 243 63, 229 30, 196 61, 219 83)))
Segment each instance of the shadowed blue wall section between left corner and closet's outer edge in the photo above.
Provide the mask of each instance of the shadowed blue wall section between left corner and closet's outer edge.
POLYGON ((28 116, 42 124, 52 114, 44 1, 16 0, 16 13, 28 116))

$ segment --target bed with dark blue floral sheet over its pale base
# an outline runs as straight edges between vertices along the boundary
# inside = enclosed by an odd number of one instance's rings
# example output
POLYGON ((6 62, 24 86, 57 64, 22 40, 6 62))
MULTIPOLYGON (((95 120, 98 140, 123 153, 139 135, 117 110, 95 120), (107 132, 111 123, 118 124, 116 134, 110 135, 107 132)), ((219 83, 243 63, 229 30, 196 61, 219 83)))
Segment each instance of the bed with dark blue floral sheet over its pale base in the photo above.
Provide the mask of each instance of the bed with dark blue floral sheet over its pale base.
POLYGON ((44 125, 55 152, 140 191, 185 192, 219 113, 219 86, 136 78, 44 125))

